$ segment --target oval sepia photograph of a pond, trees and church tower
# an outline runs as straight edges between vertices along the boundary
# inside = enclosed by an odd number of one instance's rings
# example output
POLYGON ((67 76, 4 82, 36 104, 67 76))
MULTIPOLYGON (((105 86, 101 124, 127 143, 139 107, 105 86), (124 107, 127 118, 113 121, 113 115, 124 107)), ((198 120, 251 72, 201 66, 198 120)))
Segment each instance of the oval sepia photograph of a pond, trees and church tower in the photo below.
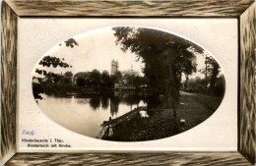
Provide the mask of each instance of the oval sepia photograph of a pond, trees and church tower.
POLYGON ((224 98, 224 71, 209 52, 168 31, 100 28, 63 41, 32 71, 40 110, 75 133, 144 141, 183 133, 224 98))

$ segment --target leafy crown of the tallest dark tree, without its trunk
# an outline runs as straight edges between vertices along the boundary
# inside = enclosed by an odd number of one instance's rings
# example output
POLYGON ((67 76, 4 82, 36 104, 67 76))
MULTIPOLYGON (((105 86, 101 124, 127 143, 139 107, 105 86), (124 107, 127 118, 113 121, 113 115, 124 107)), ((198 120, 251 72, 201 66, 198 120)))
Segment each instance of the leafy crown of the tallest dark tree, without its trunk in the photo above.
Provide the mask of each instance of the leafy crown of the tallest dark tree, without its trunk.
POLYGON ((203 52, 202 48, 196 44, 168 32, 150 28, 117 27, 112 29, 116 44, 121 46, 121 50, 124 52, 130 50, 138 55, 138 59, 142 58, 145 63, 146 77, 156 77, 151 69, 160 69, 163 64, 161 60, 166 59, 164 55, 172 56, 172 60, 175 61, 173 69, 178 77, 181 73, 191 75, 196 72, 197 64, 194 53, 203 52))

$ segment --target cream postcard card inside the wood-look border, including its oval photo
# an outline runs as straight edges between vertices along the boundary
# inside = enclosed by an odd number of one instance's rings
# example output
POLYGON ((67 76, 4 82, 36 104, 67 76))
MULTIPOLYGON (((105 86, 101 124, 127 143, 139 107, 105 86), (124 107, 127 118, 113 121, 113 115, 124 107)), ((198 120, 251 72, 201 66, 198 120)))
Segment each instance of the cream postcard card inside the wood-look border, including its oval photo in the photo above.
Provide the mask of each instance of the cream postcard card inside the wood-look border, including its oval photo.
POLYGON ((19 22, 19 151, 236 150, 235 19, 19 22))

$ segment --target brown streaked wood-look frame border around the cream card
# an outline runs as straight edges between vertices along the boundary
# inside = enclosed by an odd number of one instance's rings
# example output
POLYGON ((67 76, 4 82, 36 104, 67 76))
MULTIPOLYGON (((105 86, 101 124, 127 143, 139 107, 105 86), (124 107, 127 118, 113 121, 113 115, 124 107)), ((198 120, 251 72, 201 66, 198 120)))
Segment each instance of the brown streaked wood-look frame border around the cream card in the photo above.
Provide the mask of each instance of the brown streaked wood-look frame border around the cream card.
POLYGON ((1 164, 255 164, 255 3, 253 0, 82 1, 7 0, 1 29, 1 164), (18 19, 235 18, 238 21, 237 152, 17 153, 18 19), (143 158, 143 159, 142 159, 143 158), (95 159, 98 161, 96 162, 95 159), (248 162, 249 161, 249 162, 248 162))

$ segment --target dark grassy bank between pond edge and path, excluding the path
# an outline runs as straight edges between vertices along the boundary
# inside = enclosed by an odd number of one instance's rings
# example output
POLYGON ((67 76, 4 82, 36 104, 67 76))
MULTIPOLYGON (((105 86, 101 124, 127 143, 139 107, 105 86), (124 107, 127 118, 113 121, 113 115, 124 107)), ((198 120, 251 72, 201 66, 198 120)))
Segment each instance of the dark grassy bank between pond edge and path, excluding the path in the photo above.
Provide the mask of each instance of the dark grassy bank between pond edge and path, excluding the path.
POLYGON ((143 141, 167 138, 184 131, 178 118, 173 118, 172 110, 152 111, 148 118, 141 118, 138 113, 129 121, 118 124, 113 128, 113 135, 108 140, 143 141))

